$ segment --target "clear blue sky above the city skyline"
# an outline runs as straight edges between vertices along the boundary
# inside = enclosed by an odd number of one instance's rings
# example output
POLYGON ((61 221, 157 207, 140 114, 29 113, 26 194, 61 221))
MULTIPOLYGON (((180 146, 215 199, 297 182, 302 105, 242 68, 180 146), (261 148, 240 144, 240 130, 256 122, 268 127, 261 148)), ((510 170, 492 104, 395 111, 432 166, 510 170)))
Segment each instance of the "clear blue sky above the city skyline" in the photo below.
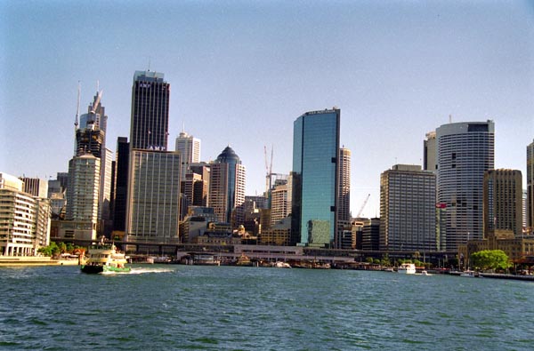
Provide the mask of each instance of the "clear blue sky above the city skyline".
MULTIPOLYGON (((247 195, 292 166, 293 122, 341 108, 352 213, 379 215, 380 173, 422 164, 425 133, 492 119, 496 168, 534 139, 534 3, 526 1, 0 1, 0 172, 55 178, 103 90, 108 147, 129 137, 135 70, 171 84, 170 140, 228 144, 247 195), (269 152, 270 154, 270 152, 269 152)), ((524 181, 524 180, 523 180, 524 181)))

